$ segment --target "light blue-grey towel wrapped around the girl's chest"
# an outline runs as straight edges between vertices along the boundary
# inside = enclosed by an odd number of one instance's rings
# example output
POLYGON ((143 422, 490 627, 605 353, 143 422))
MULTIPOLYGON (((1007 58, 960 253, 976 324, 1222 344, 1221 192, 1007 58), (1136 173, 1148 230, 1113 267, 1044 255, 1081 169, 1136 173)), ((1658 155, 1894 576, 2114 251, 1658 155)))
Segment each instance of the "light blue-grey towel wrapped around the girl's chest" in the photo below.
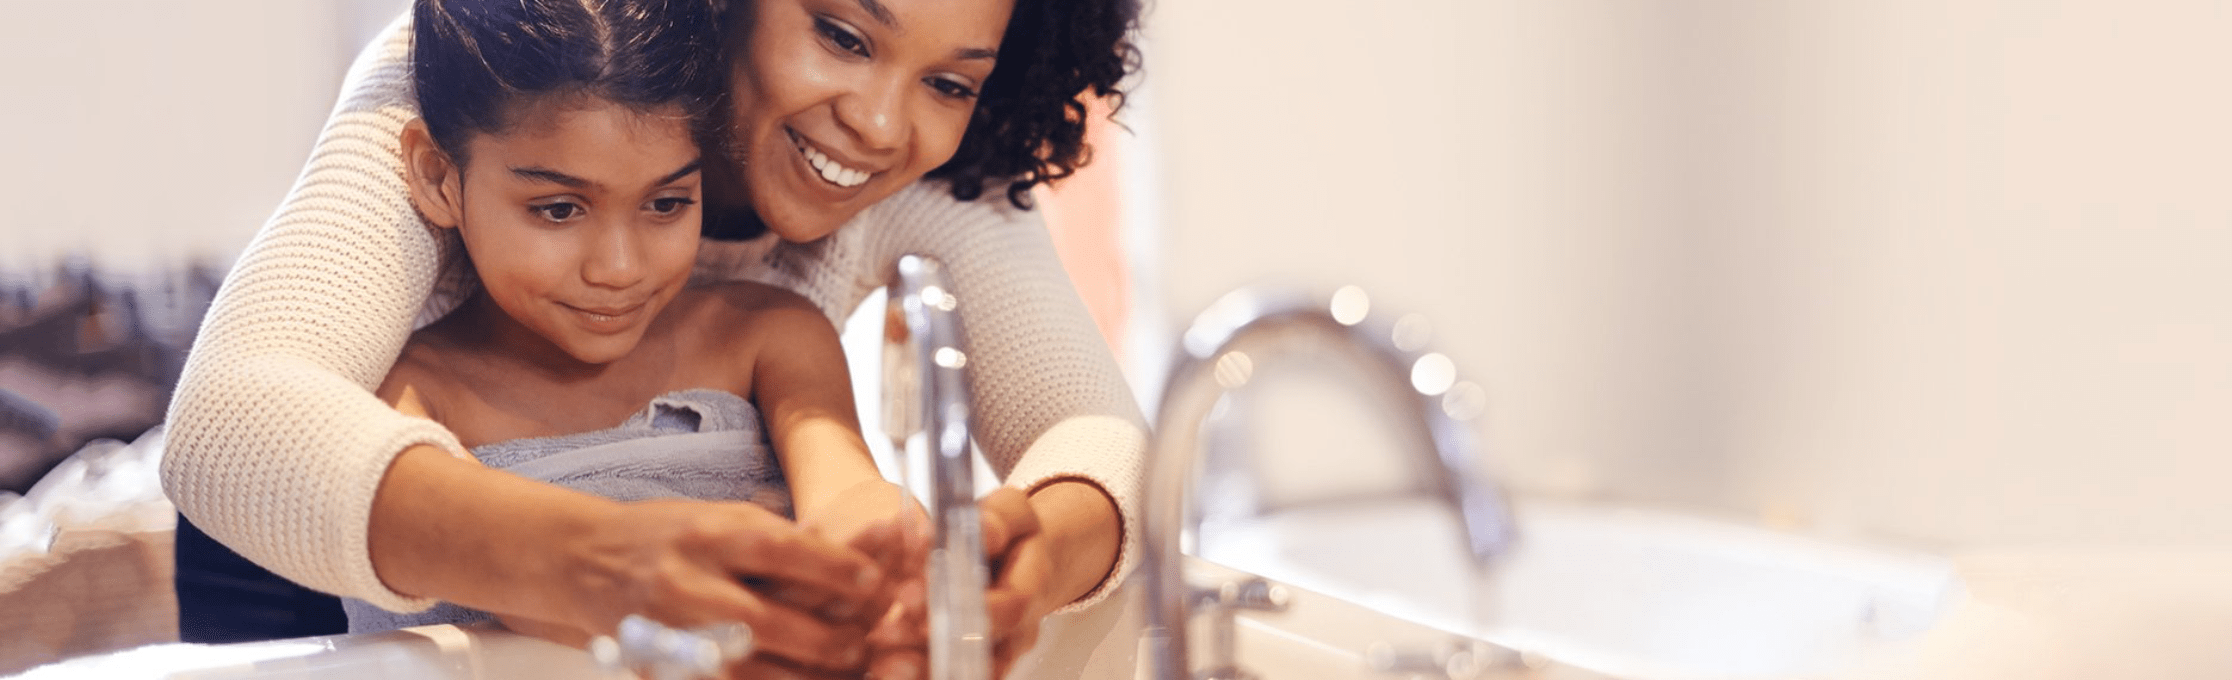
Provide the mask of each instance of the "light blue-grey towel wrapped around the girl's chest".
MULTIPOLYGON (((482 444, 473 448, 473 457, 491 468, 618 502, 754 502, 790 517, 790 486, 768 446, 759 410, 721 390, 667 392, 616 428, 482 444)), ((348 611, 350 633, 496 620, 449 602, 420 613, 393 613, 355 598, 341 598, 341 606, 348 611)))

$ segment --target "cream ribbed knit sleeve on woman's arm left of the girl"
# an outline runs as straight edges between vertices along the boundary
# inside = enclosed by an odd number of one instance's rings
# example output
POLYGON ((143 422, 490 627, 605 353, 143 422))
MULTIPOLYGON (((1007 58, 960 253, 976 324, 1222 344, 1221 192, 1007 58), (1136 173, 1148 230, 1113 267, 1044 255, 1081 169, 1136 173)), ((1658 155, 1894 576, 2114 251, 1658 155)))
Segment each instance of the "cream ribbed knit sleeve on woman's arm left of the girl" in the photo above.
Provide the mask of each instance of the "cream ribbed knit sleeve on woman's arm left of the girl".
POLYGON ((217 292, 170 404, 163 490, 237 553, 306 586, 395 611, 373 573, 373 493, 395 455, 442 426, 377 397, 408 339, 444 241, 402 181, 415 114, 411 31, 366 47, 308 167, 217 292))

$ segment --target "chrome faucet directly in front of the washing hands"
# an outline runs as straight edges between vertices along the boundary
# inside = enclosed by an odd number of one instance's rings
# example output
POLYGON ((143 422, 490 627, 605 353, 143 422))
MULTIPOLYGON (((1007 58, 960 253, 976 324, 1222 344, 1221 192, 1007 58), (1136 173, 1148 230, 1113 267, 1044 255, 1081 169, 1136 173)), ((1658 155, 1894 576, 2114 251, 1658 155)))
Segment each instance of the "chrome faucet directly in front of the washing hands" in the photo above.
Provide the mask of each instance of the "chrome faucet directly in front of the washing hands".
MULTIPOLYGON (((902 470, 929 459, 931 678, 989 680, 991 622, 984 613, 984 526, 969 457, 969 354, 944 268, 902 256, 884 308, 884 430, 902 470)), ((917 486, 917 484, 908 484, 917 486)))

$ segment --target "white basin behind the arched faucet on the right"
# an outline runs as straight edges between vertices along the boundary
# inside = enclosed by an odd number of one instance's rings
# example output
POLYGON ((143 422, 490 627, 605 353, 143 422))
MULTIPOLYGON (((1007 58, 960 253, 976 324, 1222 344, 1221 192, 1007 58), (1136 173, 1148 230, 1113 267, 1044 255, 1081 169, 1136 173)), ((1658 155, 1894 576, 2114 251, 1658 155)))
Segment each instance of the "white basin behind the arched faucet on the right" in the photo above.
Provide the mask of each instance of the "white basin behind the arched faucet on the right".
POLYGON ((1413 499, 1205 526, 1199 544, 1219 564, 1616 678, 1837 671, 1920 635, 1960 593, 1933 555, 1634 508, 1518 513, 1520 548, 1493 580, 1466 566, 1455 519, 1413 499))

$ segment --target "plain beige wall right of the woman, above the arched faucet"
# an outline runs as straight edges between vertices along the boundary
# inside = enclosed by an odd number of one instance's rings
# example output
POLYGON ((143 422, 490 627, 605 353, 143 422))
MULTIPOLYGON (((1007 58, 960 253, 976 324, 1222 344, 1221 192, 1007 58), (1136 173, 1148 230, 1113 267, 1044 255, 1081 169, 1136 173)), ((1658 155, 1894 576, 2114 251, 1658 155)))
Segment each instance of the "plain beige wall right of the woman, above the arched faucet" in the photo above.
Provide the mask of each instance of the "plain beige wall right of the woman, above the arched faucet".
POLYGON ((2225 542, 2228 27, 2201 0, 1165 0, 1147 299, 1286 279, 1426 312, 1538 493, 2225 542))

